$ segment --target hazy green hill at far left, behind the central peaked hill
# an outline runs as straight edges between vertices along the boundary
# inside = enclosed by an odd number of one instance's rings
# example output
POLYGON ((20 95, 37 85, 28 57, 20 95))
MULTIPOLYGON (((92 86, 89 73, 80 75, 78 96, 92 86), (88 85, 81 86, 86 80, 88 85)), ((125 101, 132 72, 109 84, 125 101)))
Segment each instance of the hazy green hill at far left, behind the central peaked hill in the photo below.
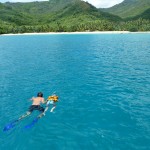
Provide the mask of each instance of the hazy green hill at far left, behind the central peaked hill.
POLYGON ((17 25, 37 25, 43 15, 60 11, 80 0, 50 0, 30 3, 0 3, 0 20, 17 25))

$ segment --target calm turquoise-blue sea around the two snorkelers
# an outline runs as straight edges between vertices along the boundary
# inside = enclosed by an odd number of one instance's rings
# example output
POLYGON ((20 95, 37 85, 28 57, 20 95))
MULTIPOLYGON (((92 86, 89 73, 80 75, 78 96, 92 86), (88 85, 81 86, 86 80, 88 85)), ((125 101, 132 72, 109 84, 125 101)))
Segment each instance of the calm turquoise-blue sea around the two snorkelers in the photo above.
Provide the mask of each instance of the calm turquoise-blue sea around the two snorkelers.
POLYGON ((150 34, 0 36, 1 150, 150 149, 150 34), (3 127, 38 91, 54 113, 3 127))

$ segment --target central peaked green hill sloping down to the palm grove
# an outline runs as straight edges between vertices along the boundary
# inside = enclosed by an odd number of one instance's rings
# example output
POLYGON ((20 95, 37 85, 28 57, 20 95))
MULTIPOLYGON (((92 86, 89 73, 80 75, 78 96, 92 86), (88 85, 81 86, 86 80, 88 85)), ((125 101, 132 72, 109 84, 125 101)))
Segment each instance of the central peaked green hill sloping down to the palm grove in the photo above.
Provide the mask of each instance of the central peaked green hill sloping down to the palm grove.
MULTIPOLYGON (((43 15, 44 17, 44 15, 43 15)), ((56 13, 53 13, 51 16, 45 16, 47 18, 44 18, 47 22, 51 21, 65 21, 69 24, 72 22, 72 24, 76 23, 85 23, 95 20, 108 20, 108 21, 120 21, 121 18, 99 11, 94 6, 90 5, 89 3, 79 1, 76 3, 73 3, 71 5, 66 6, 60 11, 57 11, 56 13)), ((43 20, 43 21, 44 21, 43 20)))

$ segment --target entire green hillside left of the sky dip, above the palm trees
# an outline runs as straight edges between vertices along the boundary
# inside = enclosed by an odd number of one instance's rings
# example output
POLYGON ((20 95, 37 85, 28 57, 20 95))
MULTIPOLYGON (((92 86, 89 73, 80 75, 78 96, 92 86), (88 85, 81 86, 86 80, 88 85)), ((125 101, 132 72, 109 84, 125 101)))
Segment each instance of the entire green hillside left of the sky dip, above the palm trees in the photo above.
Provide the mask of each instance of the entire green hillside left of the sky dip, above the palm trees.
POLYGON ((0 5, 0 20, 16 25, 39 25, 54 22, 85 23, 94 20, 121 20, 80 0, 5 3, 0 5))

